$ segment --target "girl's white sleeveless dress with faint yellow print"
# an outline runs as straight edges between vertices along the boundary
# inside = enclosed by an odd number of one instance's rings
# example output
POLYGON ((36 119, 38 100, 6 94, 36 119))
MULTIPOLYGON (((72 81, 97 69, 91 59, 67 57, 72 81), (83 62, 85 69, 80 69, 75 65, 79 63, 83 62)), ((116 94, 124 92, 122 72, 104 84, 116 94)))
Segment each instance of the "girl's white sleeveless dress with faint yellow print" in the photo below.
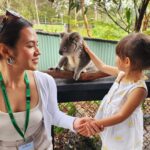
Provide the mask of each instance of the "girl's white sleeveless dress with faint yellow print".
MULTIPOLYGON (((127 100, 128 94, 135 88, 147 87, 144 80, 136 83, 122 83, 121 74, 116 79, 108 94, 103 98, 95 116, 96 119, 107 118, 119 111, 127 100)), ((129 118, 114 126, 106 127, 100 133, 102 150, 142 150, 143 144, 143 113, 141 105, 129 118)))

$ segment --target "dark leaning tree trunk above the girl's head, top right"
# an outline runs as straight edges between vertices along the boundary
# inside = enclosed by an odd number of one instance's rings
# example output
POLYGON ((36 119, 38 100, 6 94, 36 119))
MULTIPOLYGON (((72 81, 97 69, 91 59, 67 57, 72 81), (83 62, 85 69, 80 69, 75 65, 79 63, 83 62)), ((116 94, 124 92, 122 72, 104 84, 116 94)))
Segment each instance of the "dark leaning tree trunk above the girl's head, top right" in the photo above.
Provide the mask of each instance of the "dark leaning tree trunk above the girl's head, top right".
POLYGON ((139 32, 141 30, 142 21, 144 18, 144 14, 146 13, 146 9, 150 0, 142 0, 141 6, 139 7, 138 13, 139 16, 136 18, 134 31, 139 32))

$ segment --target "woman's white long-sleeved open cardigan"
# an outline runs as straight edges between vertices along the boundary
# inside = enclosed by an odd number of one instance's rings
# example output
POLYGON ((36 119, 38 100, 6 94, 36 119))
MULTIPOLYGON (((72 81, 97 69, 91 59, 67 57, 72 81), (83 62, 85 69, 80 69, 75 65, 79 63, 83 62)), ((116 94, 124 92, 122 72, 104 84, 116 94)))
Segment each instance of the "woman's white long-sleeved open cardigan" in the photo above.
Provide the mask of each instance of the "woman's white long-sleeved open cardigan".
POLYGON ((57 87, 52 76, 47 73, 35 71, 35 80, 42 100, 44 125, 48 138, 51 139, 51 125, 73 129, 75 117, 68 116, 59 110, 57 102, 57 87))

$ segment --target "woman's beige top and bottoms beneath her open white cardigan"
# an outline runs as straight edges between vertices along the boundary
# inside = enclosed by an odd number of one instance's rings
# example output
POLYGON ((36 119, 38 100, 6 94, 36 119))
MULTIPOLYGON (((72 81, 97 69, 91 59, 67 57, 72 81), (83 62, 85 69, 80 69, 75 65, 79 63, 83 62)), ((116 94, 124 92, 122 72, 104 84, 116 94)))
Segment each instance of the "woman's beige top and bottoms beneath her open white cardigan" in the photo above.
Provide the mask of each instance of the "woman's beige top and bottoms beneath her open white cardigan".
MULTIPOLYGON (((52 150, 52 140, 48 140, 43 123, 41 100, 30 110, 30 120, 26 132, 26 139, 33 140, 35 150, 52 150)), ((14 113, 16 122, 23 130, 26 112, 14 113)), ((17 150, 17 146, 24 141, 11 123, 8 113, 0 111, 0 150, 17 150), (15 139, 15 141, 14 141, 15 139)))

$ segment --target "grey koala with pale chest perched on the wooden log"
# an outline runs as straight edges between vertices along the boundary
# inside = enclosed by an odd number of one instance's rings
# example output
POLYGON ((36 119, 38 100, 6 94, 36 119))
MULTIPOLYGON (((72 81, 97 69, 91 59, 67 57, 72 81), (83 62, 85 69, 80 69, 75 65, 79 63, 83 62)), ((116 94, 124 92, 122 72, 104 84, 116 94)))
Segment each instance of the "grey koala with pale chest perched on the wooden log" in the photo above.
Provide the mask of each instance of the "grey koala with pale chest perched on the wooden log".
POLYGON ((62 55, 56 69, 73 71, 73 79, 78 80, 81 72, 95 71, 96 67, 83 48, 83 38, 78 32, 61 33, 59 54, 62 55))

